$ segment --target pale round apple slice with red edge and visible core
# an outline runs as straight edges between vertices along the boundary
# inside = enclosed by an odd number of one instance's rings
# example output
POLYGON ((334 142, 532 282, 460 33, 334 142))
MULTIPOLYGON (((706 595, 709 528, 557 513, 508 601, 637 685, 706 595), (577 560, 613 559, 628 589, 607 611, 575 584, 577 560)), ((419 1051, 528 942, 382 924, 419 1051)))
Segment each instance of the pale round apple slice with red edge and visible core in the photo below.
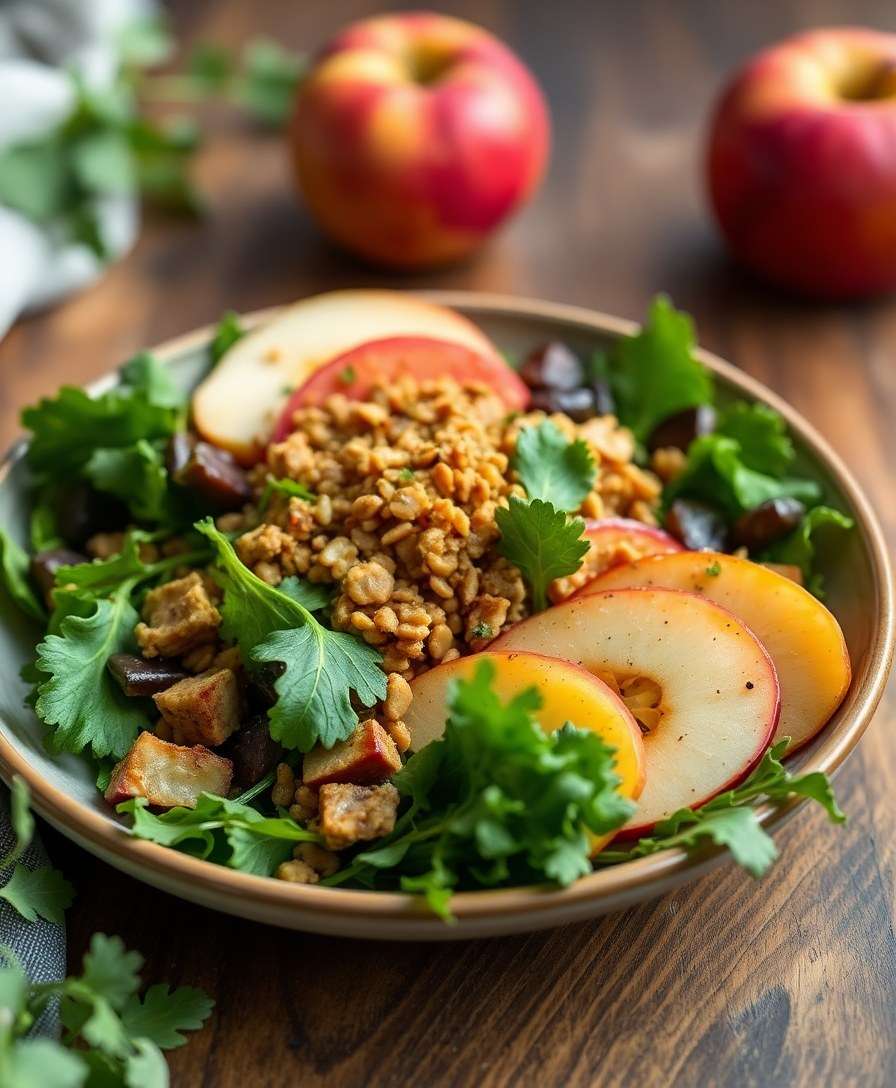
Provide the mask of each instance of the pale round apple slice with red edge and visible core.
POLYGON ((563 656, 659 710, 644 737, 647 781, 622 834, 639 837, 679 808, 741 781, 777 724, 774 665, 731 613, 695 593, 617 590, 557 605, 512 627, 495 651, 563 656), (644 696, 652 690, 652 706, 644 696))

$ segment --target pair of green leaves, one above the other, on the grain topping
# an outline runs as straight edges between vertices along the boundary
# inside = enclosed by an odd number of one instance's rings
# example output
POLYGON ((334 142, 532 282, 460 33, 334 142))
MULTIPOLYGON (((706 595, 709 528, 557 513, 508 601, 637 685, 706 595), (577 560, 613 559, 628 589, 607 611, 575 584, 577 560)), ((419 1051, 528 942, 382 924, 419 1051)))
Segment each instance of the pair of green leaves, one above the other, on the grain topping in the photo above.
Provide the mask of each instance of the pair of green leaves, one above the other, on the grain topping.
POLYGON ((597 469, 582 440, 570 442, 550 420, 524 428, 517 440, 513 469, 527 499, 511 496, 498 507, 498 545, 522 571, 536 611, 547 607, 556 578, 573 574, 588 551, 582 518, 567 517, 594 486, 597 469))

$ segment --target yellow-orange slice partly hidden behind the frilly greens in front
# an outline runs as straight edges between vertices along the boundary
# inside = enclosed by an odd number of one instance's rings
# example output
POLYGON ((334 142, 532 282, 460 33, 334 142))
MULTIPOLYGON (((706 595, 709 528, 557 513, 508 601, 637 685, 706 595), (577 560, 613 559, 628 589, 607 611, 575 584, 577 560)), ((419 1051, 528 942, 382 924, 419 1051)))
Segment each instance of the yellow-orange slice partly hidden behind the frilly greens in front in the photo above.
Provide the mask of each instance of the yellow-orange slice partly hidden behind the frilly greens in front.
POLYGON ((422 672, 411 681, 413 701, 405 717, 414 751, 441 737, 448 684, 471 676, 483 660, 495 666, 494 685, 501 700, 507 701, 526 688, 538 689, 543 700, 538 721, 548 732, 572 721, 580 729, 598 733, 602 741, 615 749, 620 793, 632 799, 640 794, 644 787, 644 743, 625 704, 590 672, 544 653, 494 653, 488 650, 422 672))

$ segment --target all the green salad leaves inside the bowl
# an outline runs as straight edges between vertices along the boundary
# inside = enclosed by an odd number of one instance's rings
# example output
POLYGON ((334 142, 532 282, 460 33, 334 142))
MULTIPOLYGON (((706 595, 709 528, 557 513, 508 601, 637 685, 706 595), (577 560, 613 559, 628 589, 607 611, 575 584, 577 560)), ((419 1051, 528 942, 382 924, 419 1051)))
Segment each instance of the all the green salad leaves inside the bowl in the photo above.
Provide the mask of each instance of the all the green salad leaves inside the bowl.
MULTIPOLYGON (((210 366, 241 335, 225 316, 211 346, 210 366)), ((644 329, 622 337, 592 360, 596 381, 612 391, 621 422, 639 443, 671 416, 710 405, 711 375, 694 350, 690 320, 660 297, 644 329)), ((322 621, 328 594, 299 578, 278 586, 261 581, 236 556, 196 493, 172 478, 164 447, 186 428, 187 403, 166 368, 151 355, 130 360, 121 383, 97 397, 66 387, 26 409, 27 465, 34 480, 33 551, 65 535, 60 508, 72 490, 89 485, 127 506, 132 523, 121 551, 108 559, 60 567, 50 605, 29 577, 29 556, 0 531, 0 582, 10 599, 46 625, 34 663, 24 670, 29 702, 47 728, 51 750, 90 758, 102 787, 113 763, 150 725, 147 703, 125 698, 107 670, 110 655, 133 652, 133 630, 146 592, 189 562, 208 566, 223 591, 223 631, 250 669, 289 662, 273 682, 271 735, 296 762, 315 743, 349 737, 357 707, 385 694, 377 651, 322 621), (183 551, 164 555, 179 537, 183 551), (147 545, 153 547, 147 548, 147 545)), ((698 435, 683 471, 667 485, 669 508, 682 497, 709 500, 733 526, 769 498, 797 498, 805 515, 767 553, 752 555, 796 565, 806 584, 821 592, 816 542, 821 531, 850 521, 825 505, 821 486, 796 474, 796 453, 783 420, 762 405, 735 403, 718 411, 712 433, 698 435)), ((547 421, 522 432, 514 469, 526 497, 496 514, 502 554, 522 571, 536 609, 549 583, 575 572, 587 551, 584 521, 574 511, 594 482, 595 465, 582 441, 568 441, 547 421)), ((270 494, 298 493, 300 484, 269 481, 270 494)), ((265 503, 262 498, 262 505, 265 503)), ((613 756, 575 724, 553 734, 537 726, 534 690, 509 703, 496 695, 488 668, 450 691, 444 739, 411 756, 395 776, 403 808, 395 831, 374 849, 358 851, 324 880, 360 887, 400 888, 425 895, 450 917, 458 889, 549 880, 565 885, 590 870, 590 837, 620 827, 630 804, 614 790, 613 756)), ((752 803, 794 795, 821 803, 842 820, 823 775, 794 776, 781 763, 782 744, 739 787, 697 812, 684 809, 630 849, 609 849, 594 860, 608 865, 669 846, 706 841, 726 845, 736 861, 760 875, 775 856, 752 803)), ((152 813, 144 802, 119 806, 130 833, 233 868, 270 875, 295 843, 320 841, 267 800, 273 776, 236 799, 206 794, 196 808, 152 813)))

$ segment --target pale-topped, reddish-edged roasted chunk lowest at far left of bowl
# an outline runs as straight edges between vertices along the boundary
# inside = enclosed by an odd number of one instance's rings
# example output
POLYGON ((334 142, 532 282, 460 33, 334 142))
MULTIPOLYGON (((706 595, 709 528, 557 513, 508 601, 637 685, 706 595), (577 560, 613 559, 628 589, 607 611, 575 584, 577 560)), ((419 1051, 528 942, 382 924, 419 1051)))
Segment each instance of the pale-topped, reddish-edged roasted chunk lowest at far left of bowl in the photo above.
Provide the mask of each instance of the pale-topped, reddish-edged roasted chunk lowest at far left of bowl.
POLYGON ((201 744, 185 747, 142 732, 115 765, 105 800, 115 805, 128 798, 146 798, 158 808, 194 808, 200 793, 226 796, 233 771, 229 759, 201 744))

